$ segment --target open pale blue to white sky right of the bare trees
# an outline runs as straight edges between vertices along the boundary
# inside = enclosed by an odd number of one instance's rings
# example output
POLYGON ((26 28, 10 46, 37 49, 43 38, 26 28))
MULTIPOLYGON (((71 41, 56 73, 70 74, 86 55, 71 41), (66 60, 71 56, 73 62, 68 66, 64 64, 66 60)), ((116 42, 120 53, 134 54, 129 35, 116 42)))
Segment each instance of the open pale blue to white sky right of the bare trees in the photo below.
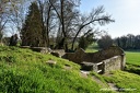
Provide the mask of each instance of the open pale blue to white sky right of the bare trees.
POLYGON ((100 30, 107 31, 113 38, 127 34, 140 35, 140 0, 81 0, 80 10, 88 13, 100 5, 104 5, 105 12, 115 20, 115 23, 100 30))

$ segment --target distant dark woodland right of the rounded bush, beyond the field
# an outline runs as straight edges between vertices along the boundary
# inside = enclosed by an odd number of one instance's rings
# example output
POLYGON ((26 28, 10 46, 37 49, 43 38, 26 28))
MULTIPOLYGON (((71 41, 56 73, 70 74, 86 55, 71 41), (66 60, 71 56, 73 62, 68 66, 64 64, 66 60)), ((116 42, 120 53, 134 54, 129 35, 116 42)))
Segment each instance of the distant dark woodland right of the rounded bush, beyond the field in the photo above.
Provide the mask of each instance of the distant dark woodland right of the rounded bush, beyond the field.
POLYGON ((114 43, 122 49, 140 49, 140 35, 128 34, 115 38, 114 43))

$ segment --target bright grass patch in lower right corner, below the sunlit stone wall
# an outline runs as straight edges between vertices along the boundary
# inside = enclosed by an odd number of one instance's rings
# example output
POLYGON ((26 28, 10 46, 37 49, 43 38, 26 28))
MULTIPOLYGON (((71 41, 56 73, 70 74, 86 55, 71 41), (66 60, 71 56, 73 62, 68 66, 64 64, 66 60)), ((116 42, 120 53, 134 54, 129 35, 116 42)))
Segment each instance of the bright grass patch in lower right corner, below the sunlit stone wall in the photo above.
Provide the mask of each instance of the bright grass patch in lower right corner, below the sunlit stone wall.
POLYGON ((140 93, 140 75, 125 71, 114 71, 109 77, 104 77, 108 83, 114 83, 124 93, 140 93))

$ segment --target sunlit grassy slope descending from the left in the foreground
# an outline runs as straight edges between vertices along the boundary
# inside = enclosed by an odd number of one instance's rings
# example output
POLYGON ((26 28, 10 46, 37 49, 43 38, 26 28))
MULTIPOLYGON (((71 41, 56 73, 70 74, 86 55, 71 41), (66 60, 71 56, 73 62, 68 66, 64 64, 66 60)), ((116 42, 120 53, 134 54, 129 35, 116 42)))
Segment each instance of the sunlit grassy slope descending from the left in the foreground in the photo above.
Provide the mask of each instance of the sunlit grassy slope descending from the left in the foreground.
POLYGON ((101 86, 79 70, 78 65, 51 55, 0 47, 0 93, 100 93, 101 86), (47 60, 57 63, 49 66, 47 60))

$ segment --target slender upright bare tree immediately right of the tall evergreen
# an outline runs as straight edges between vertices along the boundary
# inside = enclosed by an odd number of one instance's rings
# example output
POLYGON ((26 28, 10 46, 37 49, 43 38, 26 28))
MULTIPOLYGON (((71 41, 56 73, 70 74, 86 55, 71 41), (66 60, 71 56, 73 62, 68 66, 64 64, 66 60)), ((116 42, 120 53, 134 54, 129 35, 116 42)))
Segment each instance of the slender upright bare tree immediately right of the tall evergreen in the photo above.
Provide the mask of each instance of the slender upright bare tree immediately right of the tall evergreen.
MULTIPOLYGON (((51 0, 54 3, 55 1, 51 0)), ((49 33, 51 27, 52 20, 52 5, 49 3, 49 0, 37 0, 43 23, 43 37, 45 46, 49 47, 49 33)))

